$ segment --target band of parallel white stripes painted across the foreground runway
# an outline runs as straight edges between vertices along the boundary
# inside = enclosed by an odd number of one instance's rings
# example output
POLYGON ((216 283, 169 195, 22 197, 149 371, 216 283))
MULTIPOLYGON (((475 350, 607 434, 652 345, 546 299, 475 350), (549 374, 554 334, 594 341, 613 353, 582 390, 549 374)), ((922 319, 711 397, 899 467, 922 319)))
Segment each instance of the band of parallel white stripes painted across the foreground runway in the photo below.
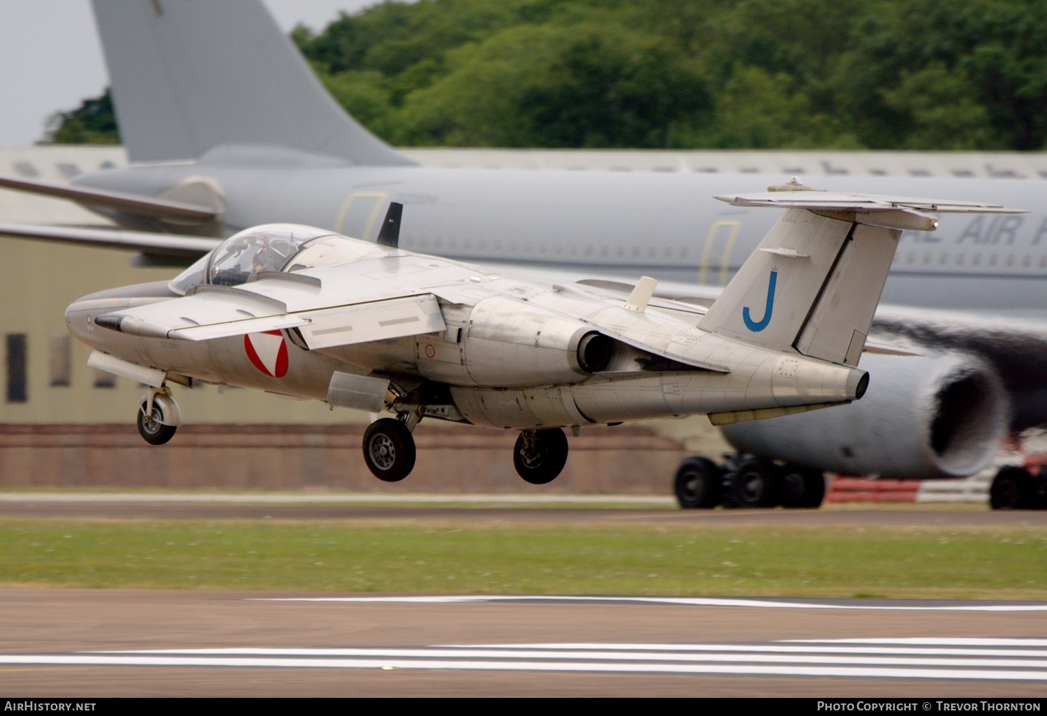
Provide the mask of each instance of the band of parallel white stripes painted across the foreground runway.
POLYGON ((0 654, 3 665, 294 669, 451 669, 1047 681, 1047 640, 957 649, 957 641, 878 640, 876 647, 753 644, 493 644, 431 647, 154 649, 0 654), (1040 648, 1035 648, 1040 647, 1040 648), (960 652, 960 653, 958 653, 960 652))

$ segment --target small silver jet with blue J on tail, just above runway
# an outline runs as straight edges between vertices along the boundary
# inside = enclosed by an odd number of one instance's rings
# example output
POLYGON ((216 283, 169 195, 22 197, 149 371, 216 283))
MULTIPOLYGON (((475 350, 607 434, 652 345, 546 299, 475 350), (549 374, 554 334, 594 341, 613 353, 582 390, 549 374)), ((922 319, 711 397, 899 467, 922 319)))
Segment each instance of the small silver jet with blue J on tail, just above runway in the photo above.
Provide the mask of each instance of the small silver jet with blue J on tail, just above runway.
MULTIPOLYGON (((856 365, 900 230, 934 230, 929 211, 1015 212, 806 189, 717 198, 786 211, 708 311, 653 298, 646 276, 622 301, 405 251, 392 203, 375 243, 249 228, 168 285, 74 301, 66 322, 95 349, 88 364, 150 386, 137 424, 152 444, 181 422, 169 383, 202 381, 395 413, 363 438, 386 482, 414 467, 423 418, 520 430, 516 471, 541 485, 566 462, 563 427, 694 413, 726 424, 862 398, 869 374, 856 365)), ((718 500, 720 479, 691 490, 718 500)))

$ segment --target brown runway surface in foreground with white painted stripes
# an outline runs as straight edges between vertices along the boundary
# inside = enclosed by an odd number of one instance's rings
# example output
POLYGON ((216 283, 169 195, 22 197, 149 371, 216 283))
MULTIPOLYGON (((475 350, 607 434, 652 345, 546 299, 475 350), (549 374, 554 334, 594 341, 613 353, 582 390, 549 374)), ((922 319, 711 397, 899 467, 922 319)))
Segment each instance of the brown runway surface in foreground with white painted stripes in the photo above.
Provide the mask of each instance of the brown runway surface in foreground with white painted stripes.
POLYGON ((1047 696, 1047 603, 0 589, 12 696, 1047 696))

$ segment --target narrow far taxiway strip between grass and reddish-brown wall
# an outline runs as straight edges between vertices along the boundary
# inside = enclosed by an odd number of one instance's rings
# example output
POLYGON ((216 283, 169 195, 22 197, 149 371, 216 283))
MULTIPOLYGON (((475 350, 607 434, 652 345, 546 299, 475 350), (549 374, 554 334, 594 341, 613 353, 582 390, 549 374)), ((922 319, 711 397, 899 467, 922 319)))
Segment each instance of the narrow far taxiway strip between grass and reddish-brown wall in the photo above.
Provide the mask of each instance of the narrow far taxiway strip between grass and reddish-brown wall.
POLYGON ((811 529, 1047 525, 1047 510, 992 511, 971 505, 680 510, 672 504, 671 498, 650 495, 537 495, 524 499, 514 494, 8 492, 0 493, 0 518, 424 520, 811 529), (521 501, 525 504, 518 505, 521 501), (578 502, 616 507, 577 507, 578 502))

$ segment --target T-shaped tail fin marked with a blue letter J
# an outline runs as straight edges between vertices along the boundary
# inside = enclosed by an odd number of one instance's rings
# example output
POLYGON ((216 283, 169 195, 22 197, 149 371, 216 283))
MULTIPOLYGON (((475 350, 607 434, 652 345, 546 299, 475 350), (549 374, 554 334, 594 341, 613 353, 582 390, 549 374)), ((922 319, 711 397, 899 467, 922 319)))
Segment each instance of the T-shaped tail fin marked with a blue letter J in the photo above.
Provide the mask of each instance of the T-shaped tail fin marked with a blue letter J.
POLYGON ((716 198, 788 210, 699 328, 845 365, 856 365, 862 356, 903 229, 934 230, 938 222, 928 210, 1016 212, 989 204, 817 191, 716 198))

